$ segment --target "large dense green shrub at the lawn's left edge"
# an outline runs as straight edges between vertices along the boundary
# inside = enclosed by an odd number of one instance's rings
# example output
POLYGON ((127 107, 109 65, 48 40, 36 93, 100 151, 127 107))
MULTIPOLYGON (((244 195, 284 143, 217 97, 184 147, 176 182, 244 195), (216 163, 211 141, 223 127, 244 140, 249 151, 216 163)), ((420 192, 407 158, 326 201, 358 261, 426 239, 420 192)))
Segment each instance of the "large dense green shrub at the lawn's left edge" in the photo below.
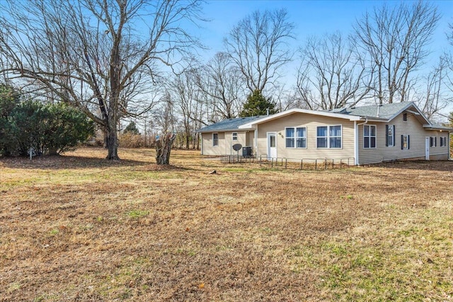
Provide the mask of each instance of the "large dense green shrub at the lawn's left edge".
POLYGON ((36 154, 59 154, 94 134, 94 123, 64 103, 25 100, 12 106, 0 95, 0 112, 0 155, 25 156, 30 147, 36 154))

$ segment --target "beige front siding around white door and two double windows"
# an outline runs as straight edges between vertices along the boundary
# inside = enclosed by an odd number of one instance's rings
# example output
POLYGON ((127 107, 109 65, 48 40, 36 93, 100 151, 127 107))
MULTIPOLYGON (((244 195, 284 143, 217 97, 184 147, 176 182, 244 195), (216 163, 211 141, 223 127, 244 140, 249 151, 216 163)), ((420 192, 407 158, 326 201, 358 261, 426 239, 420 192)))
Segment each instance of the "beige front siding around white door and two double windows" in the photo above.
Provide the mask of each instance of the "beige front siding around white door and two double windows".
POLYGON ((336 117, 294 113, 277 120, 258 124, 257 156, 268 156, 268 132, 277 134, 277 157, 288 159, 353 158, 354 122, 336 117), (319 126, 342 126, 342 148, 316 148, 316 129, 319 126), (306 127, 306 148, 286 148, 286 127, 306 127))

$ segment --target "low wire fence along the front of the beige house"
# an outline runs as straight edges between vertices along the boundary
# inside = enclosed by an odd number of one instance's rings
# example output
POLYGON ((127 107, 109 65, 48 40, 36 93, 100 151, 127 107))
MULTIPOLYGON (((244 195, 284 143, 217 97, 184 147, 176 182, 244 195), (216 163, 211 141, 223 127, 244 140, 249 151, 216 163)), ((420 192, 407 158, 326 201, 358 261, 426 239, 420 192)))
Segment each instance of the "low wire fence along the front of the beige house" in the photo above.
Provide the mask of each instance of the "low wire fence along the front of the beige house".
POLYGON ((285 168, 294 170, 329 170, 350 168, 354 158, 268 158, 267 156, 222 155, 221 163, 249 163, 264 168, 285 168))

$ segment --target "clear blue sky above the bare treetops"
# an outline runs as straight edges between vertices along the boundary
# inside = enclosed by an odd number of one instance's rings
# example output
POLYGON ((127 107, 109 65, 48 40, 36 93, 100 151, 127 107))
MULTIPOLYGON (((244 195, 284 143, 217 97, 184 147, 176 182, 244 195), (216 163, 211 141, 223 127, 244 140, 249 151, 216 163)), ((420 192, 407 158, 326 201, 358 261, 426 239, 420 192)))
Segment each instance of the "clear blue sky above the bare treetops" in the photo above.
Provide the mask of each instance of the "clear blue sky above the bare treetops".
MULTIPOLYGON (((202 42, 210 47, 210 51, 205 54, 210 57, 211 54, 224 49, 223 37, 248 14, 258 9, 287 8, 289 21, 296 25, 296 40, 292 42, 292 46, 297 48, 303 45, 306 37, 310 35, 323 35, 336 30, 344 34, 350 33, 352 24, 357 18, 360 19, 365 12, 371 12, 374 6, 380 7, 384 3, 389 6, 401 4, 400 1, 207 1, 203 16, 211 21, 205 24, 200 35, 202 42)), ((432 50, 440 54, 449 47, 445 32, 448 23, 453 23, 453 1, 431 1, 431 3, 435 4, 442 14, 432 42, 432 50)))

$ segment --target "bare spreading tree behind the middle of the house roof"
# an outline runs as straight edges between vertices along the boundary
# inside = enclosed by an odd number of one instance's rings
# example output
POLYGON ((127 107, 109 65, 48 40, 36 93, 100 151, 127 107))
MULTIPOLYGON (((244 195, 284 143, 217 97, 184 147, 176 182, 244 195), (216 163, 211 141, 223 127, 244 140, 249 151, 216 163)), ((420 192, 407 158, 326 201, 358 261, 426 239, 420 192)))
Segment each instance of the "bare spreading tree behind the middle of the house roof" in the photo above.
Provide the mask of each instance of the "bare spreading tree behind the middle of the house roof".
POLYGON ((301 51, 297 92, 310 109, 342 108, 367 98, 372 73, 354 41, 333 33, 311 37, 301 51))

